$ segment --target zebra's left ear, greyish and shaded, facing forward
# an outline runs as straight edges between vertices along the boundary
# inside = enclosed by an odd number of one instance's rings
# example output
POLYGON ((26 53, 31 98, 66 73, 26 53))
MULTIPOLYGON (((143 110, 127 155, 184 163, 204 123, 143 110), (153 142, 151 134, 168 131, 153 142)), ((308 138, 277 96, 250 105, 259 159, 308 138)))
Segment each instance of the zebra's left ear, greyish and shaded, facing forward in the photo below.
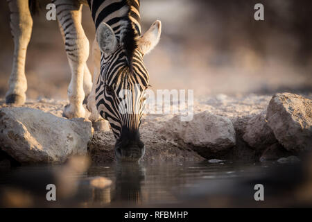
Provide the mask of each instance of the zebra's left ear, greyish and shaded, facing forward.
POLYGON ((96 41, 103 53, 110 55, 118 46, 118 40, 112 28, 105 22, 102 22, 96 30, 96 41))

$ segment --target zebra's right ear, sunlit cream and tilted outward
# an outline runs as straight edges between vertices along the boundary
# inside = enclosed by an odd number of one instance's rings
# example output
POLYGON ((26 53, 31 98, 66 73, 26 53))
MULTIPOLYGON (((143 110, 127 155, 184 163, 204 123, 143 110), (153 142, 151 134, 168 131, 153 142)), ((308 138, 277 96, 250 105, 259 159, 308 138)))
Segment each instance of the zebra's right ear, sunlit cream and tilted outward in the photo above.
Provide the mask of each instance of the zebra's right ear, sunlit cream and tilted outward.
POLYGON ((158 44, 160 34, 162 33, 162 22, 159 20, 155 21, 150 29, 142 35, 137 41, 139 51, 144 55, 152 51, 158 44))

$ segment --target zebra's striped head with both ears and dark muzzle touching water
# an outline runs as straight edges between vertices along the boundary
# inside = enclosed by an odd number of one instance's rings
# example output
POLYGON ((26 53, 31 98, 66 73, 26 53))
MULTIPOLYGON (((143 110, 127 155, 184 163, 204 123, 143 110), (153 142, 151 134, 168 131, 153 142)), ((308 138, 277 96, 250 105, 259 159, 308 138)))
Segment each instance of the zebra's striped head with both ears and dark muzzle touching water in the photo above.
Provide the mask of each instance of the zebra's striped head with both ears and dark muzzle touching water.
POLYGON ((149 85, 143 57, 159 42, 161 28, 161 22, 156 21, 142 36, 125 35, 132 37, 133 42, 119 40, 105 23, 101 23, 96 31, 102 51, 101 73, 96 83, 96 106, 98 113, 110 122, 116 138, 115 155, 119 161, 139 161, 145 153, 139 134, 144 113, 144 92, 149 85))

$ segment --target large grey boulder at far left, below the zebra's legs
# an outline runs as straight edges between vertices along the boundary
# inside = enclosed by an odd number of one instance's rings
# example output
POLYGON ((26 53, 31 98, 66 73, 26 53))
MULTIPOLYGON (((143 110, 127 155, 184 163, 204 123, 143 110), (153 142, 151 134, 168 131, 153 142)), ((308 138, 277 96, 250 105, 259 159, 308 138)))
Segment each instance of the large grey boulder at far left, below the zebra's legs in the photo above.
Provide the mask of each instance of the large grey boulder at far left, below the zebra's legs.
POLYGON ((21 163, 64 162, 85 155, 92 123, 33 108, 1 108, 0 148, 21 163))

